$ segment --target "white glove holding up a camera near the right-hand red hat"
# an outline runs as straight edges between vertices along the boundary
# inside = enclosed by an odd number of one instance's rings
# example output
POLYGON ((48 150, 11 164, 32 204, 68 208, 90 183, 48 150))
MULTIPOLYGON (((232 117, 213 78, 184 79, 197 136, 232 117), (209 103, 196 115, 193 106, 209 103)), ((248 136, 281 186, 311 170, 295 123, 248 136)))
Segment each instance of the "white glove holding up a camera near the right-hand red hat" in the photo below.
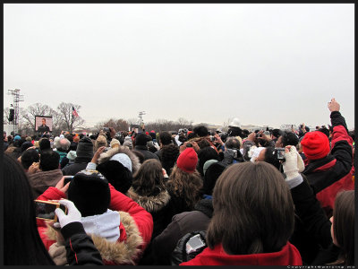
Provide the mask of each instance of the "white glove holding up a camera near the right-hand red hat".
POLYGON ((300 154, 294 146, 291 146, 289 150, 286 147, 285 160, 286 161, 282 164, 282 166, 284 168, 284 173, 286 174, 286 180, 297 178, 299 176, 298 172, 303 171, 304 164, 300 154))

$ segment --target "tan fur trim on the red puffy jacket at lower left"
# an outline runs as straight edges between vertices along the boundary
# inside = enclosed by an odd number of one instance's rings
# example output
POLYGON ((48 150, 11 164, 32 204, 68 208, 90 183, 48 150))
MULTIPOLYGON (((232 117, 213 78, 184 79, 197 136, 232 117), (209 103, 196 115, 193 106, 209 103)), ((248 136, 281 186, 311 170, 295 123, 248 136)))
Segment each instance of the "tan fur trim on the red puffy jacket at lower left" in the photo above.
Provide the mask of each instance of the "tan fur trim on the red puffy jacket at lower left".
MULTIPOLYGON (((136 265, 141 255, 141 244, 143 243, 141 233, 129 213, 122 211, 118 213, 120 214, 121 222, 124 225, 125 233, 127 235, 127 238, 124 239, 124 241, 109 242, 107 239, 89 235, 105 264, 136 265)), ((56 256, 60 256, 59 251, 61 251, 61 249, 65 252, 65 248, 63 247, 64 241, 57 239, 56 232, 52 227, 48 226, 46 234, 48 239, 57 240, 57 242, 51 246, 51 250, 53 253, 56 253, 56 256)))

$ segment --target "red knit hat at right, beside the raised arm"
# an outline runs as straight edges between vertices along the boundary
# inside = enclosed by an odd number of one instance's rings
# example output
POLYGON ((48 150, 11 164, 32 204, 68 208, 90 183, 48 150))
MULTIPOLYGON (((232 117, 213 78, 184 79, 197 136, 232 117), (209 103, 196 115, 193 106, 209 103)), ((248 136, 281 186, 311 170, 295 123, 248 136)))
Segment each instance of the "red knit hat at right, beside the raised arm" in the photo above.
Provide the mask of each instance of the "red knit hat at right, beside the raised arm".
POLYGON ((320 131, 304 134, 301 144, 303 146, 303 153, 308 160, 322 159, 330 151, 328 137, 320 131))

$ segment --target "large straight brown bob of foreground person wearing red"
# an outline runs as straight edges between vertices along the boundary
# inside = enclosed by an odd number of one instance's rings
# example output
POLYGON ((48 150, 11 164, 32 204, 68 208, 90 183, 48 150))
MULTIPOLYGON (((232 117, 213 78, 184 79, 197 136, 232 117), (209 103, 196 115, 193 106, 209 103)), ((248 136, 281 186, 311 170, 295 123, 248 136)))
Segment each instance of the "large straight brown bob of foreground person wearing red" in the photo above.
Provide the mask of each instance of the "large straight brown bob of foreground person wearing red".
POLYGON ((229 166, 213 191, 210 248, 222 244, 229 255, 272 253, 294 231, 294 202, 285 178, 264 161, 229 166))

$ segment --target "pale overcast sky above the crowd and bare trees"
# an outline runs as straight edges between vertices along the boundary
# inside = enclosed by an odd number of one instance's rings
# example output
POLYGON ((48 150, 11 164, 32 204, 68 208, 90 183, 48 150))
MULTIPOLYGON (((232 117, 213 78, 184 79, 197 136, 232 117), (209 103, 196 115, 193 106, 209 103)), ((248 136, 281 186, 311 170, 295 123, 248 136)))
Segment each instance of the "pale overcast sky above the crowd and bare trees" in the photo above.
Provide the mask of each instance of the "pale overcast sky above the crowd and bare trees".
POLYGON ((354 4, 4 4, 4 108, 354 127, 354 4))

